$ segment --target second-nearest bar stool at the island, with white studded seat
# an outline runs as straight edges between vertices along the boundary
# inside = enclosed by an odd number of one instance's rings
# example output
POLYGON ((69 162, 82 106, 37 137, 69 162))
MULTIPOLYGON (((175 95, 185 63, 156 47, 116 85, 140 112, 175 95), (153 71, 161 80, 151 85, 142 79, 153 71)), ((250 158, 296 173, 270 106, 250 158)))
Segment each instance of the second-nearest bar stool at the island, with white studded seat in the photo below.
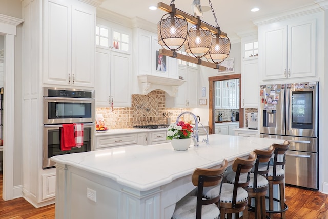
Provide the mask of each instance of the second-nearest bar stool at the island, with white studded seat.
POLYGON ((234 171, 234 184, 223 183, 221 200, 220 200, 220 212, 222 218, 226 218, 226 214, 231 218, 232 214, 235 214, 235 218, 239 218, 239 212, 243 212, 242 218, 248 218, 248 193, 245 188, 250 182, 250 171, 253 168, 256 160, 256 154, 252 151, 248 159, 235 158, 232 164, 232 170, 234 171), (245 178, 239 180, 239 178, 245 175, 245 178))

